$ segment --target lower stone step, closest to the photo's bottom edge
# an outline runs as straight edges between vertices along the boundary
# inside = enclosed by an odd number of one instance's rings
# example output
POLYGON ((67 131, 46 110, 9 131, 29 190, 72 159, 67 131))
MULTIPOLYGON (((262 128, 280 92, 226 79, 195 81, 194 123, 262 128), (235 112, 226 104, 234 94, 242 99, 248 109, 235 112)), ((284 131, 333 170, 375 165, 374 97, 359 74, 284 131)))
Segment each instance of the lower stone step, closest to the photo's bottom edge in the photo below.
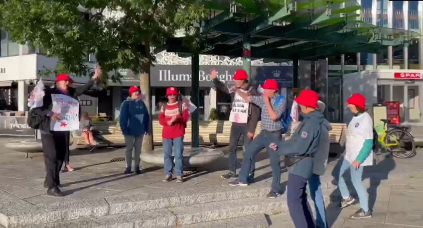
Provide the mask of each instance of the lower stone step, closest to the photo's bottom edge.
POLYGON ((286 199, 282 197, 277 199, 257 197, 105 217, 84 217, 28 225, 26 228, 258 228, 262 225, 268 227, 264 214, 279 214, 286 211, 286 199))

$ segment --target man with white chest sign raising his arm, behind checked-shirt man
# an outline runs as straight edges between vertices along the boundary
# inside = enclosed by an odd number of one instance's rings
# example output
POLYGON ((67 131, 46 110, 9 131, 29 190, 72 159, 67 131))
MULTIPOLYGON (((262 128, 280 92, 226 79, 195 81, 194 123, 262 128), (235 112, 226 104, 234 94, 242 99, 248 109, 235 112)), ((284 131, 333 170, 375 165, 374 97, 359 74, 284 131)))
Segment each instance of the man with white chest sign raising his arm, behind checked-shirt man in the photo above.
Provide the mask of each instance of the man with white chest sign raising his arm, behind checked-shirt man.
MULTIPOLYGON (((239 88, 244 93, 252 96, 258 96, 256 88, 248 83, 248 75, 244 70, 236 70, 233 80, 235 85, 225 86, 217 78, 217 72, 212 70, 211 79, 216 89, 231 94, 232 96, 232 110, 229 116, 229 121, 232 122, 231 134, 229 139, 229 173, 223 174, 223 179, 237 178, 237 147, 238 141, 243 137, 244 150, 250 145, 256 131, 257 122, 260 117, 260 108, 255 104, 250 104, 244 100, 237 93, 234 93, 239 88)), ((255 161, 253 161, 250 169, 249 182, 254 182, 255 161)))

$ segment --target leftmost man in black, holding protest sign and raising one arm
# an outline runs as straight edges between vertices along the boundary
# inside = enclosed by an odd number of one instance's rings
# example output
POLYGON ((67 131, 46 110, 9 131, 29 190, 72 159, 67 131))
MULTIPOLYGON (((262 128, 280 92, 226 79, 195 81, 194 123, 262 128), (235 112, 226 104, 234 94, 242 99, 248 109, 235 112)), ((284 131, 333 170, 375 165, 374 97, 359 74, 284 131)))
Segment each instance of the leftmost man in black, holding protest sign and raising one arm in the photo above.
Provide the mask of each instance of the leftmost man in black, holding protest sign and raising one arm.
POLYGON ((43 105, 31 110, 36 120, 32 126, 41 132, 46 176, 44 187, 47 194, 63 196, 59 189, 59 173, 67 151, 69 151, 69 131, 79 129, 78 96, 85 94, 100 77, 100 70, 86 84, 78 88, 70 87, 73 80, 66 73, 57 75, 53 88, 44 90, 43 105))

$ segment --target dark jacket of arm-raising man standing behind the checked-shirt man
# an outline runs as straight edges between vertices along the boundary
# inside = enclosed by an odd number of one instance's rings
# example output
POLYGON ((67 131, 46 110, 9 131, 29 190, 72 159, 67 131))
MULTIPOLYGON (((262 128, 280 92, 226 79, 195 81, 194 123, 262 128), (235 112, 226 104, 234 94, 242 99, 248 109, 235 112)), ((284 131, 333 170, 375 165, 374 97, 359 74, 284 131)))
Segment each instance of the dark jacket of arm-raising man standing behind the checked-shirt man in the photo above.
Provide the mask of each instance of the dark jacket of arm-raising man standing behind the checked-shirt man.
MULTIPOLYGON (((234 101, 234 95, 235 93, 229 93, 228 88, 218 79, 213 80, 214 86, 216 87, 216 89, 231 95, 232 101, 234 101)), ((257 91, 257 89, 253 86, 251 86, 250 84, 248 84, 247 88, 245 88, 245 90, 248 91, 248 95, 252 95, 252 96, 260 96, 259 92, 257 91)), ((260 120, 260 114, 261 114, 261 109, 260 107, 258 107, 255 104, 250 103, 250 107, 248 109, 249 114, 248 114, 248 122, 247 123, 236 123, 234 122, 233 124, 238 124, 238 125, 243 125, 245 127, 247 127, 248 132, 254 133, 256 132, 256 127, 257 127, 257 122, 260 120)))

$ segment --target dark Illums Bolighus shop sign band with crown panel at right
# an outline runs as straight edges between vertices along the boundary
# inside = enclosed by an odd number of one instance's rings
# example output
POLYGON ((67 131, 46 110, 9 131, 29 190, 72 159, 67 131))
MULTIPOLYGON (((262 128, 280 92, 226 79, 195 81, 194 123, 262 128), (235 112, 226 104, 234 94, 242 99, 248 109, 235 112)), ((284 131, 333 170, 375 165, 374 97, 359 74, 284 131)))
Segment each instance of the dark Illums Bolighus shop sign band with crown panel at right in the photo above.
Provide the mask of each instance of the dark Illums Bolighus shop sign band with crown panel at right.
MULTIPOLYGON (((210 72, 215 69, 217 77, 222 82, 232 80, 235 70, 241 66, 207 65, 200 66, 200 87, 213 87, 210 72)), ((252 66, 252 84, 263 84, 266 79, 275 79, 280 87, 292 88, 291 66, 252 66)), ((191 87, 190 65, 154 65, 150 69, 151 87, 191 87)))

